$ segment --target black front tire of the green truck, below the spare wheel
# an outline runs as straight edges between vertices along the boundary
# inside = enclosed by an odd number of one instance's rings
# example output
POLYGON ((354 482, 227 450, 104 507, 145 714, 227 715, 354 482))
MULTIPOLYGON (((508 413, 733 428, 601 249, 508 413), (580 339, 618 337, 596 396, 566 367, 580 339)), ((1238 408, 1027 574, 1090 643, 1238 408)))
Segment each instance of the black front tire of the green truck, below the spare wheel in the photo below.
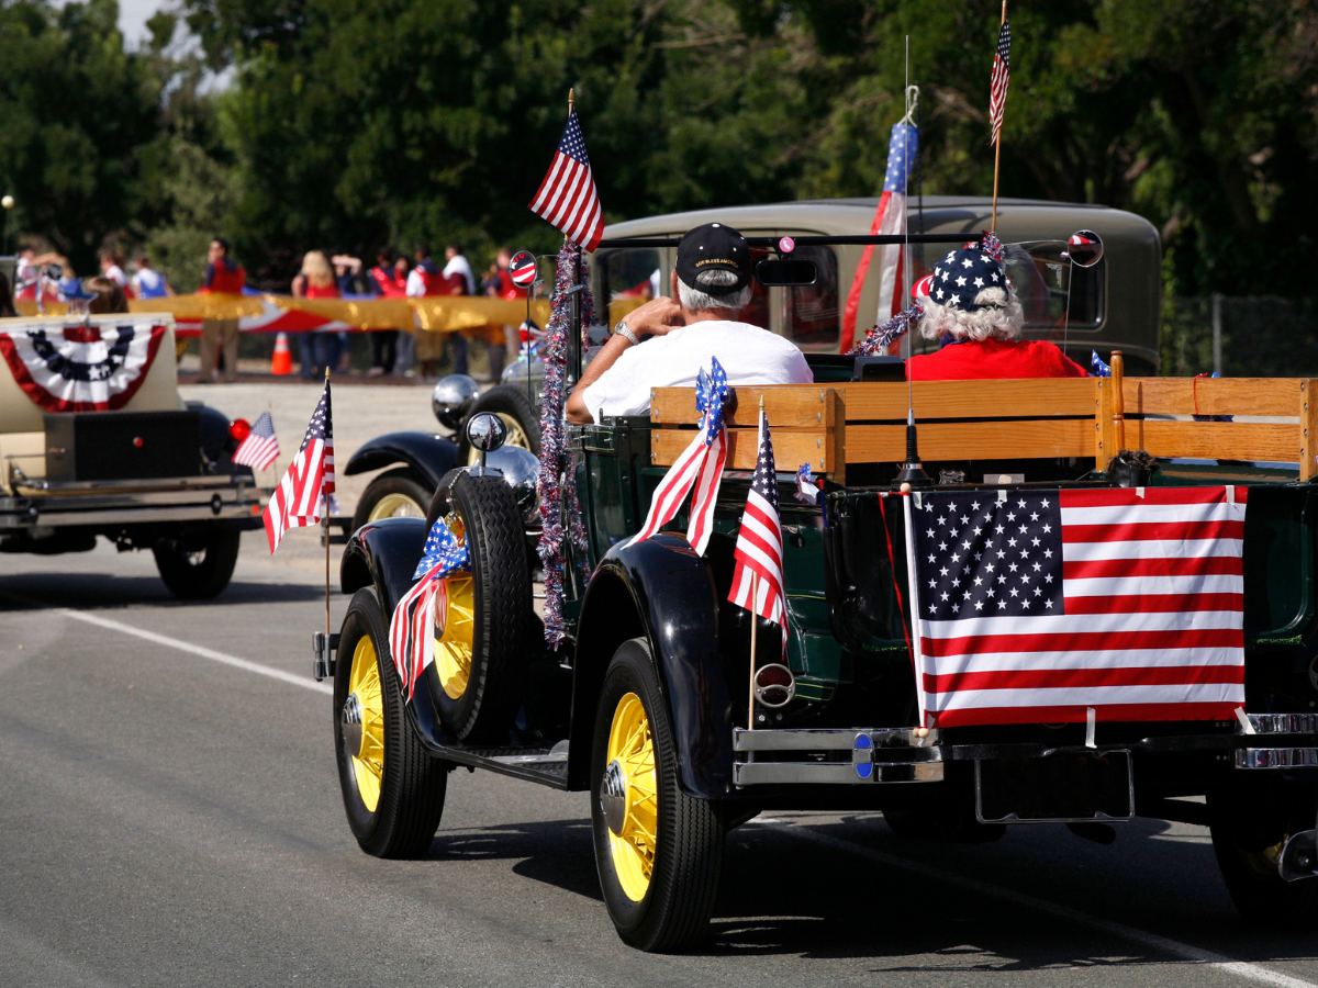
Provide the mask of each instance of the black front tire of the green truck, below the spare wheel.
MULTIPOLYGON (((362 693, 368 692, 362 689, 362 693)), ((366 728, 366 718, 361 719, 366 728)), ((361 850, 376 858, 424 856, 444 813, 447 765, 431 757, 406 721, 398 673, 389 655, 389 626, 374 588, 362 588, 348 605, 339 638, 333 680, 333 748, 348 826, 361 850), (365 782, 358 784, 358 769, 355 767, 353 752, 349 751, 344 719, 345 703, 352 692, 353 663, 362 642, 373 651, 372 656, 362 649, 362 672, 369 672, 368 663, 374 663, 381 701, 381 718, 369 727, 369 734, 377 744, 382 744, 384 752, 378 757, 381 772, 376 793, 366 792, 365 782)), ((362 734, 366 732, 368 730, 362 730, 362 734)), ((378 748, 374 751, 378 752, 378 748)), ((356 754, 368 752, 358 743, 356 754)), ((366 760, 376 761, 376 757, 366 760)))

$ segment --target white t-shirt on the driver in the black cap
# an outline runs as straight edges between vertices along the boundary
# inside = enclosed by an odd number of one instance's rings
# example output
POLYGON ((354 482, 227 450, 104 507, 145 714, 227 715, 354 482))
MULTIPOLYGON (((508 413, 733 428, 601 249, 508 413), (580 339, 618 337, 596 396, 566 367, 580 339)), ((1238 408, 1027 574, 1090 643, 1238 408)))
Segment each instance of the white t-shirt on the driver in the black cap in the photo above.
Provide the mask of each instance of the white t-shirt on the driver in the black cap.
POLYGON ((815 375, 796 346, 750 323, 709 320, 684 325, 627 348, 581 395, 590 418, 645 415, 654 387, 691 387, 709 358, 729 385, 809 385, 815 375))

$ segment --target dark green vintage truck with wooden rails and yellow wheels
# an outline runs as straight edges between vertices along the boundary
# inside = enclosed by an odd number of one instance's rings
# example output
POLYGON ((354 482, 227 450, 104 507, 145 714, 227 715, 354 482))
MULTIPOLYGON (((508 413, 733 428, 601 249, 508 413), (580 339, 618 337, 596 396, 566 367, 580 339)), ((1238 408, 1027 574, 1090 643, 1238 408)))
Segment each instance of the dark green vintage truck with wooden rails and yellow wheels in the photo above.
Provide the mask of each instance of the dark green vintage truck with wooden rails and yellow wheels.
MULTIPOLYGON (((1110 825, 1140 814, 1209 825, 1249 919, 1313 926, 1318 381, 1126 377, 1114 356, 1111 378, 908 386, 853 382, 853 361, 838 356, 809 362, 815 385, 734 389, 704 556, 680 534, 630 540, 695 435, 693 389, 656 389, 650 416, 571 431, 588 544, 565 551, 569 628, 556 652, 532 611, 527 505, 501 476, 456 469, 426 520, 353 535, 340 573, 352 602, 335 640, 319 642, 316 673, 333 677, 339 776, 361 847, 424 855, 459 765, 589 792, 619 935, 675 950, 706 929, 725 834, 764 809, 883 810, 899 833, 961 842, 1040 823, 1106 842, 1110 825), (822 511, 800 503, 795 477, 779 477, 791 635, 784 668, 776 626, 759 623, 751 706, 751 622, 728 594, 760 400, 779 466, 809 462, 826 497, 822 511), (908 407, 925 466, 944 481, 915 494, 1247 491, 1239 714, 921 725, 896 593, 908 580, 907 495, 895 489, 908 407), (1235 418, 1213 420, 1223 416, 1235 418), (1114 464, 1124 447, 1161 469, 1114 464), (389 619, 439 516, 472 566, 445 581, 431 661, 409 700, 389 619), (1195 796, 1206 805, 1182 798, 1195 796)), ((492 422, 477 435, 497 431, 492 422)), ((672 528, 684 526, 679 516, 672 528)))

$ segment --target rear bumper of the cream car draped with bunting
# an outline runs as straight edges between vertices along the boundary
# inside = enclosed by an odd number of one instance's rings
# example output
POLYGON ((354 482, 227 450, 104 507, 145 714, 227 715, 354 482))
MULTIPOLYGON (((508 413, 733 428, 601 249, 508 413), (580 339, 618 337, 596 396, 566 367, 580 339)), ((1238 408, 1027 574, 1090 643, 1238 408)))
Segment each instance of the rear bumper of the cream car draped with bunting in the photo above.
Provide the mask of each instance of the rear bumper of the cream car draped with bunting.
POLYGON ((32 528, 116 527, 157 522, 241 523, 260 527, 260 489, 246 477, 150 481, 34 481, 0 497, 0 535, 32 528), (38 486, 40 485, 40 486, 38 486))

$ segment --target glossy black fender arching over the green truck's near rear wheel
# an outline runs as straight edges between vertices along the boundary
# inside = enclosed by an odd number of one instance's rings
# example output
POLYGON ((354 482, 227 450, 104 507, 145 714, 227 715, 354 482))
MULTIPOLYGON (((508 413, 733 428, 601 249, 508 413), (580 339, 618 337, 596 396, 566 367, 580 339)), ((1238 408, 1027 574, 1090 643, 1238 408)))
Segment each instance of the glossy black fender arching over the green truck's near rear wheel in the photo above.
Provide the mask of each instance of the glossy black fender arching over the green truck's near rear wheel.
POLYGON ((701 800, 731 794, 731 696, 708 563, 672 535, 616 545, 590 578, 577 628, 568 788, 590 786, 596 705, 613 653, 645 638, 668 706, 681 790, 701 800))

